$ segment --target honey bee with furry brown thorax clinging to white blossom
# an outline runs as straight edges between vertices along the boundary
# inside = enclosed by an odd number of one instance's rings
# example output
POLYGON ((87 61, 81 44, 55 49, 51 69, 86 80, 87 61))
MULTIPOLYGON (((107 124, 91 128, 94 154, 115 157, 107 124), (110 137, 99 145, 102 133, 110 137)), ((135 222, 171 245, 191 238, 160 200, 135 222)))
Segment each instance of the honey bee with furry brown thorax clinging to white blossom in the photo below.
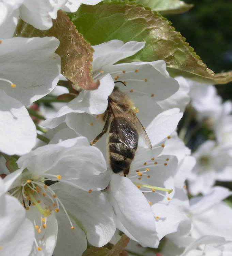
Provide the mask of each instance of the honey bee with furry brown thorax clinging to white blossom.
POLYGON ((107 110, 102 116, 105 122, 102 132, 90 143, 94 145, 109 129, 107 147, 110 166, 114 173, 123 172, 125 177, 135 157, 139 136, 142 135, 146 144, 152 148, 148 135, 134 109, 131 99, 115 86, 108 97, 107 110))

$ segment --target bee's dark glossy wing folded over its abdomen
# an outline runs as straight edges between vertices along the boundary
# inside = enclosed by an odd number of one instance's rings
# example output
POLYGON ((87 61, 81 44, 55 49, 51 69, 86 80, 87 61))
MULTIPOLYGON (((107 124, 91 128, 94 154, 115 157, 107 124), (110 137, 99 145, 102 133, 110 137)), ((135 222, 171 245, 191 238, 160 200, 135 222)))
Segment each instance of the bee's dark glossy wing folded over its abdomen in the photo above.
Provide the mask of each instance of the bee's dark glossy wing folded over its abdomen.
POLYGON ((113 114, 115 128, 121 142, 128 148, 137 147, 139 136, 132 120, 134 117, 130 113, 122 111, 119 106, 113 103, 110 104, 110 110, 113 114))

